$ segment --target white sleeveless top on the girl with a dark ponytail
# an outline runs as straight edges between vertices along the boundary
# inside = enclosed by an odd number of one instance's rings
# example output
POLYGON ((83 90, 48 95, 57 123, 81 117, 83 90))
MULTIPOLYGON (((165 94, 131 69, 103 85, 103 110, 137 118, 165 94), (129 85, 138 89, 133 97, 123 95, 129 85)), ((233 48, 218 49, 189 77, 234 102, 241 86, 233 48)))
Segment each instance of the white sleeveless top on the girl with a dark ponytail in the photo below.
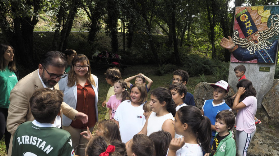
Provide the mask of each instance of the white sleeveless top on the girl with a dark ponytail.
POLYGON ((161 117, 157 117, 155 112, 151 112, 147 121, 147 136, 149 136, 153 132, 162 130, 162 125, 167 119, 171 119, 172 121, 174 121, 174 117, 171 113, 168 113, 161 117))

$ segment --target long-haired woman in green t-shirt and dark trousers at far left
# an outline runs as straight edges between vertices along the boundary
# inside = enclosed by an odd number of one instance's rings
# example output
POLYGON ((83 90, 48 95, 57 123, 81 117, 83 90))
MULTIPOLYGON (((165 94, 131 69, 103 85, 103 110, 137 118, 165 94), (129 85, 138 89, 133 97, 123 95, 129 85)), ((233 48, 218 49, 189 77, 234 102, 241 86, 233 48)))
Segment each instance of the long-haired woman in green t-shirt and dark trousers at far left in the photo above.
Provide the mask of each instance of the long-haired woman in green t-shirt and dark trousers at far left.
POLYGON ((17 83, 15 75, 14 48, 8 44, 0 44, 0 139, 5 134, 5 144, 8 151, 11 133, 7 131, 6 121, 10 105, 10 92, 17 83))

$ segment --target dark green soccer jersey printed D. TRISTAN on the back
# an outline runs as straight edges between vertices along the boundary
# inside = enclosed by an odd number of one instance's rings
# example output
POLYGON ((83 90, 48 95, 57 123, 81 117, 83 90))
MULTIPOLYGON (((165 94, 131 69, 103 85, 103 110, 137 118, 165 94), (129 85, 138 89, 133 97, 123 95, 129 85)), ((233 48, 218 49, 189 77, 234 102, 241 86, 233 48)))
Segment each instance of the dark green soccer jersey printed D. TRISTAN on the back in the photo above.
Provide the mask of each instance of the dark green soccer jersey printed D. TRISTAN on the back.
POLYGON ((12 156, 74 156, 69 132, 24 122, 15 131, 12 156))

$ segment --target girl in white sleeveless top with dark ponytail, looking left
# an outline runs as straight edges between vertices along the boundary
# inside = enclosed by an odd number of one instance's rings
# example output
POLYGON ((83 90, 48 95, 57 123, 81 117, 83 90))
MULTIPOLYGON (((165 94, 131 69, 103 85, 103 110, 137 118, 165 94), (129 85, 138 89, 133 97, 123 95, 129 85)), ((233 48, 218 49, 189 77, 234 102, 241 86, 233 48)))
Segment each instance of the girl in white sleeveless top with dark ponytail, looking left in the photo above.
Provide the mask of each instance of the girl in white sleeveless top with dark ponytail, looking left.
POLYGON ((164 130, 175 136, 172 125, 176 113, 175 102, 172 100, 170 90, 159 87, 151 91, 150 103, 152 112, 146 118, 145 125, 139 134, 149 136, 153 132, 164 130))

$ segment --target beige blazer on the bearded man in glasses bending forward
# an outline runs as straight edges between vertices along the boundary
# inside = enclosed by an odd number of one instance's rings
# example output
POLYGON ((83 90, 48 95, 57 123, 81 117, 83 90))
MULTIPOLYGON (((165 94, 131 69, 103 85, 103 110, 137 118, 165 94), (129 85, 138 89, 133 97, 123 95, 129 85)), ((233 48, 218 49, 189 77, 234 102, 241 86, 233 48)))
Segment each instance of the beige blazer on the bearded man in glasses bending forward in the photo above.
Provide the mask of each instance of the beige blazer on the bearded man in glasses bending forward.
MULTIPOLYGON (((9 99, 10 106, 8 109, 7 117, 7 130, 12 135, 8 151, 9 156, 11 155, 13 136, 17 127, 25 121, 34 120, 34 117, 30 110, 29 99, 31 98, 35 90, 40 88, 43 88, 43 85, 39 78, 37 69, 18 81, 15 87, 11 90, 9 99)), ((58 83, 54 86, 54 89, 59 90, 58 83)), ((61 111, 65 116, 69 117, 72 120, 74 120, 76 114, 78 113, 77 110, 73 109, 64 102, 61 105, 61 111)))

